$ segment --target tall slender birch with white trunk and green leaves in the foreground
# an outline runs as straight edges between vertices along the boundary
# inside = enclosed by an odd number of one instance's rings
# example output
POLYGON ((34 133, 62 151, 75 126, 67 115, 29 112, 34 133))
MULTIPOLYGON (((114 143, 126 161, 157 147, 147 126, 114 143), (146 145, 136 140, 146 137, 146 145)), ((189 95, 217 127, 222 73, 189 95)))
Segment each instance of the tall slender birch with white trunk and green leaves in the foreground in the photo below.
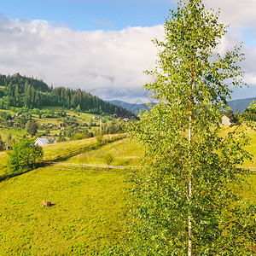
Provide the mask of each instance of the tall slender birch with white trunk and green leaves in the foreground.
MULTIPOLYGON (((241 45, 218 54, 227 27, 201 0, 180 1, 144 87, 159 102, 131 128, 146 148, 131 175, 129 255, 252 255, 254 208, 232 187, 251 155, 245 130, 224 134, 221 111, 243 86, 241 45)), ((254 244, 255 246, 255 244, 254 244)))

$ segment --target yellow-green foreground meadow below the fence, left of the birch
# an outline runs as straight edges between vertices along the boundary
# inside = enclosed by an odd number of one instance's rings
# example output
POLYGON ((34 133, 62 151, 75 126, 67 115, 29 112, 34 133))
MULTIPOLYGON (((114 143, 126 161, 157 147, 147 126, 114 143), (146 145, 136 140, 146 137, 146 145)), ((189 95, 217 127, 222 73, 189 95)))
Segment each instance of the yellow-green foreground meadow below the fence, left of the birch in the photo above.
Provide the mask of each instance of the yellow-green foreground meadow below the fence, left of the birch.
POLYGON ((101 255, 119 240, 123 175, 42 168, 0 183, 0 255, 101 255), (42 208, 41 201, 53 207, 42 208))

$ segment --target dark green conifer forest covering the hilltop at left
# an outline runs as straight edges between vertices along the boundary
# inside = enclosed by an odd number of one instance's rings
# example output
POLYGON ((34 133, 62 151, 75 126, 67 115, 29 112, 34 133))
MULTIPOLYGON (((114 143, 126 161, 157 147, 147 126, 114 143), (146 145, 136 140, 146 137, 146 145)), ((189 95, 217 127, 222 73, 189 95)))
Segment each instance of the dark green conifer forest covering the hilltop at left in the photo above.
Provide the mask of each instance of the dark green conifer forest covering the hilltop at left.
POLYGON ((117 113, 122 117, 134 115, 130 110, 104 102, 84 90, 66 87, 49 87, 43 80, 27 78, 16 73, 12 76, 0 74, 0 108, 9 107, 64 107, 89 113, 117 113))

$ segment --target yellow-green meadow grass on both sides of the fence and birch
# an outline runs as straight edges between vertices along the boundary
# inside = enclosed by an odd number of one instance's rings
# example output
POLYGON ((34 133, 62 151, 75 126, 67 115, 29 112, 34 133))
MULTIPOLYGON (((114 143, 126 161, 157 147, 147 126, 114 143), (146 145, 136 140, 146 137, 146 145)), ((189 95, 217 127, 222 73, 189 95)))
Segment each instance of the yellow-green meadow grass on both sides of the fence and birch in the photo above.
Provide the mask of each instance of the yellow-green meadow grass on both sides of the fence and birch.
MULTIPOLYGON (((224 131, 225 132, 225 131, 224 131)), ((113 137, 116 135, 113 135, 113 137)), ((256 134, 248 150, 254 155, 256 134)), ((111 135, 105 138, 111 137, 111 135)), ((44 146, 44 160, 96 143, 96 138, 44 146)), ((139 166, 143 147, 128 138, 75 155, 65 163, 139 166)), ((0 176, 7 154, 0 152, 0 176)), ((48 166, 0 182, 0 255, 104 255, 106 244, 119 242, 128 209, 123 190, 125 172, 48 166), (53 207, 41 207, 41 201, 53 207)), ((255 173, 256 174, 256 173, 255 173)), ((256 203, 256 175, 234 188, 256 203)))

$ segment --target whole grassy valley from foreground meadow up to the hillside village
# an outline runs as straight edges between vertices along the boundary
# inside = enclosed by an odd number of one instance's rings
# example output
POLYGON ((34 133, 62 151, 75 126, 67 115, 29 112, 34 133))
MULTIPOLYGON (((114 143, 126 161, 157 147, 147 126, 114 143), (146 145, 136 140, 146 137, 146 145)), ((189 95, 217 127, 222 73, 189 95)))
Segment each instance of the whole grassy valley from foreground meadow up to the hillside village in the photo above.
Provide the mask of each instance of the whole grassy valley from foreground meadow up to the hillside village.
MULTIPOLYGON (((125 133, 137 117, 130 112, 123 115, 125 108, 117 105, 109 105, 109 112, 81 109, 82 105, 11 106, 7 88, 8 84, 0 86, 0 254, 111 255, 111 248, 118 247, 127 234, 129 195, 125 191, 131 183, 125 181, 143 165, 143 146, 125 133), (3 149, 23 138, 38 137, 56 141, 43 146, 42 166, 11 175, 8 150, 3 149), (42 201, 53 206, 41 207, 42 201)), ((47 90, 40 92, 43 97, 53 91, 47 90)), ((222 136, 234 129, 236 125, 224 126, 222 136)), ((251 167, 252 172, 239 186, 230 187, 254 204, 256 135, 253 130, 247 134, 253 161, 242 167, 251 167)))

